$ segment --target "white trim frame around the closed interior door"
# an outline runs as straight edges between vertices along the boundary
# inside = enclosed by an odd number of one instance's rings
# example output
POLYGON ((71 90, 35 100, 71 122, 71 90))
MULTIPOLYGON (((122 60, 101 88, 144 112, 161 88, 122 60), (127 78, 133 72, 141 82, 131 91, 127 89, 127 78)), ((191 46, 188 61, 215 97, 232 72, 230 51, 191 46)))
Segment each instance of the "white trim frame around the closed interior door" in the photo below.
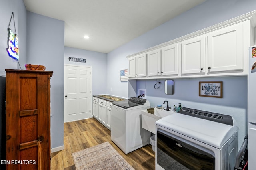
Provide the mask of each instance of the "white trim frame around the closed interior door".
POLYGON ((89 118, 92 118, 93 115, 92 115, 92 66, 90 65, 75 65, 75 64, 64 64, 64 94, 63 94, 63 104, 64 104, 64 107, 63 107, 63 117, 64 117, 64 114, 65 114, 65 66, 72 66, 72 67, 86 67, 86 68, 90 68, 90 99, 88 101, 90 101, 90 113, 91 113, 91 116, 89 118))

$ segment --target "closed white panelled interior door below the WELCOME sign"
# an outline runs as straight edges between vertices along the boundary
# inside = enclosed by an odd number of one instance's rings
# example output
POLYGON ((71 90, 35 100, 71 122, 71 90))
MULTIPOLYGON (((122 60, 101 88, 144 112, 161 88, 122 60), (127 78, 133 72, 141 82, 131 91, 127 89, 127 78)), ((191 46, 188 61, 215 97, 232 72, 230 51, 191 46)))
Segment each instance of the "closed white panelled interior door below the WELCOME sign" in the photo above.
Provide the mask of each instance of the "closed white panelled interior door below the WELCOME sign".
POLYGON ((92 117, 92 68, 64 66, 64 122, 92 117))

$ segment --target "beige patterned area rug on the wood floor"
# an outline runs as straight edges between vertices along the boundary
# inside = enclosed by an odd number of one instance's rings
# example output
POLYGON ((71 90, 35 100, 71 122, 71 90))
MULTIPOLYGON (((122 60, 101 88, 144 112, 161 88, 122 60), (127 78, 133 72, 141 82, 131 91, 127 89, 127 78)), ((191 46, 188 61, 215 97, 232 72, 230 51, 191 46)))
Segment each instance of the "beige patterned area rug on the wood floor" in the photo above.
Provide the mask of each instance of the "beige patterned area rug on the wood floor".
POLYGON ((72 154, 77 170, 134 170, 109 142, 72 154))

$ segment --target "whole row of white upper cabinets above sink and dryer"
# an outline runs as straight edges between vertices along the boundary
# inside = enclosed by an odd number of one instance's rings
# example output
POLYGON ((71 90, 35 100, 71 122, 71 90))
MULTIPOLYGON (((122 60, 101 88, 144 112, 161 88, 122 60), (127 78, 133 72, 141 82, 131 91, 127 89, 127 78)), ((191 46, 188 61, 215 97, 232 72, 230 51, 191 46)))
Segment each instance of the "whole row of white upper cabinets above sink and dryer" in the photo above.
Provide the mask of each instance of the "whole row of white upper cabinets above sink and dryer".
POLYGON ((248 74, 256 12, 171 40, 128 57, 128 77, 138 79, 248 74))

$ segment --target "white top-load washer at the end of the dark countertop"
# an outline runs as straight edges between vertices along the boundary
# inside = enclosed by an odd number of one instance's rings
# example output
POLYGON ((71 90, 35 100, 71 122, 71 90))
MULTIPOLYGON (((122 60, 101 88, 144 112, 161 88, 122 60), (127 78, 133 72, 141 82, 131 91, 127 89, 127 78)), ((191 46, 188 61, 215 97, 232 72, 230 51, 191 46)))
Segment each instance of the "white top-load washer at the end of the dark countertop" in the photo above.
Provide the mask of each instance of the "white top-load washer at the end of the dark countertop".
POLYGON ((125 154, 150 143, 150 132, 141 127, 141 111, 148 108, 148 100, 136 97, 112 103, 111 140, 125 154))

